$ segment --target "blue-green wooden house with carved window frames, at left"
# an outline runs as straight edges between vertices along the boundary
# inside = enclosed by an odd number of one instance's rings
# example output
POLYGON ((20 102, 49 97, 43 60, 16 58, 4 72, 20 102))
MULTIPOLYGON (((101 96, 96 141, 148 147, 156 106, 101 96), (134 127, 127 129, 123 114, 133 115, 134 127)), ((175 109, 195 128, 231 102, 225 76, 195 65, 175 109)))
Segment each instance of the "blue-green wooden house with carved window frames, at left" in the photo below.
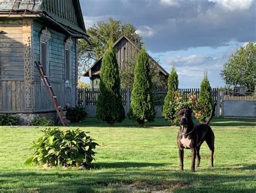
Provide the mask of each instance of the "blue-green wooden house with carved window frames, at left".
POLYGON ((76 105, 82 38, 89 41, 79 0, 1 0, 0 114, 31 119, 54 112, 35 61, 41 61, 60 104, 76 105))

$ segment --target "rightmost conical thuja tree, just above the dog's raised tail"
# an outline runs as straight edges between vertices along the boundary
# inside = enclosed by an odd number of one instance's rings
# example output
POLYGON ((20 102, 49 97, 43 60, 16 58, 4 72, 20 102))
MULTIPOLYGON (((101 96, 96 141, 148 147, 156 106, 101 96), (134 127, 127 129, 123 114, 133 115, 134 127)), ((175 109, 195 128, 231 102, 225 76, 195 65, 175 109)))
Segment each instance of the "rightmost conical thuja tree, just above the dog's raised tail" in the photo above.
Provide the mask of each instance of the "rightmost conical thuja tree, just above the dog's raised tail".
POLYGON ((212 88, 205 72, 200 85, 199 99, 197 103, 196 117, 200 123, 205 123, 212 112, 212 88))

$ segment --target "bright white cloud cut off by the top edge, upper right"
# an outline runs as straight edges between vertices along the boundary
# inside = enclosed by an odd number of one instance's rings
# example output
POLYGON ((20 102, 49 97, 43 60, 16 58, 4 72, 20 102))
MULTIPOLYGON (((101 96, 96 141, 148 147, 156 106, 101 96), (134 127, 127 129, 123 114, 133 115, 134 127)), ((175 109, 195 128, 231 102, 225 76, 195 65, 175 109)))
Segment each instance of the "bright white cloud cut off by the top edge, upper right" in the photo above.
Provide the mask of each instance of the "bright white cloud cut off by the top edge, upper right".
POLYGON ((235 11, 235 10, 247 10, 251 7, 253 1, 252 0, 208 0, 210 2, 217 3, 218 6, 227 10, 227 11, 235 11))

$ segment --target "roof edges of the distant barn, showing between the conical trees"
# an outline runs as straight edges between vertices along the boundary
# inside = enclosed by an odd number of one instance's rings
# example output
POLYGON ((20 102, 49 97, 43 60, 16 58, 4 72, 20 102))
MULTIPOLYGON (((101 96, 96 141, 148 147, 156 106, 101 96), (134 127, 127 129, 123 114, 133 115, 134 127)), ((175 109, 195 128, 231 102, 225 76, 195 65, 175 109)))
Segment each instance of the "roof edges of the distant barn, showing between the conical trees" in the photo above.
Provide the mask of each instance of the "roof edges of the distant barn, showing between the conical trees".
MULTIPOLYGON (((118 40, 117 40, 116 42, 114 42, 113 47, 116 46, 116 45, 118 44, 118 42, 119 42, 120 40, 122 40, 123 38, 125 38, 127 41, 129 41, 134 47, 136 47, 136 49, 137 49, 138 51, 140 51, 140 48, 139 48, 130 38, 128 38, 126 35, 122 35, 120 38, 118 38, 118 40)), ((92 68, 93 66, 97 65, 97 63, 98 63, 100 60, 102 60, 102 59, 103 59, 103 56, 101 56, 95 63, 93 63, 93 65, 92 65, 90 68, 88 68, 88 69, 86 70, 86 72, 83 74, 83 76, 89 76, 89 71, 91 70, 91 68, 92 68)), ((169 73, 167 73, 166 70, 165 70, 163 67, 161 67, 161 66, 159 65, 159 63, 158 63, 156 60, 154 60, 150 55, 149 55, 149 59, 159 68, 159 70, 161 71, 161 73, 163 73, 165 76, 169 76, 169 73)))

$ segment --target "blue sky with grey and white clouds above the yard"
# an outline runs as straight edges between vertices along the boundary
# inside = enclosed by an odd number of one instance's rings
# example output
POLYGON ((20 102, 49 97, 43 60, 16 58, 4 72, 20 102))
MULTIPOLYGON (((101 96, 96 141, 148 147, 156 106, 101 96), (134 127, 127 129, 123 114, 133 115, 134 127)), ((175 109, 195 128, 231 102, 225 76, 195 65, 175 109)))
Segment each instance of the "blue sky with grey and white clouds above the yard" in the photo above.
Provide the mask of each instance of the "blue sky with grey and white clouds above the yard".
POLYGON ((109 17, 130 23, 147 52, 179 75, 179 88, 199 88, 207 70, 211 87, 223 87, 224 63, 256 40, 256 0, 80 0, 85 26, 109 17))

